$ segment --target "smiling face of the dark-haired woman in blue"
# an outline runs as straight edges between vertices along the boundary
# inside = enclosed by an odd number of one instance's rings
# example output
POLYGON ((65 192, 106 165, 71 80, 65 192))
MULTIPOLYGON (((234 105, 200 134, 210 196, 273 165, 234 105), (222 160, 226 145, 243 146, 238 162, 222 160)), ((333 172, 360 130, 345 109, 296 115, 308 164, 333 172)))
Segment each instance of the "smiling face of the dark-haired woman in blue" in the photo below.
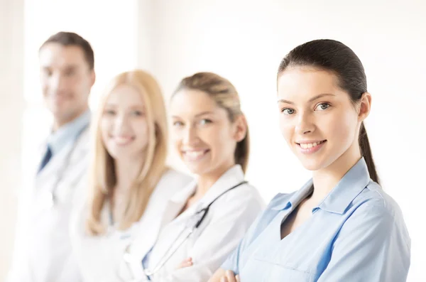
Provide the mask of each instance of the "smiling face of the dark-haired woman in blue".
POLYGON ((280 129, 308 170, 327 168, 359 153, 359 115, 332 72, 289 67, 278 77, 280 129))

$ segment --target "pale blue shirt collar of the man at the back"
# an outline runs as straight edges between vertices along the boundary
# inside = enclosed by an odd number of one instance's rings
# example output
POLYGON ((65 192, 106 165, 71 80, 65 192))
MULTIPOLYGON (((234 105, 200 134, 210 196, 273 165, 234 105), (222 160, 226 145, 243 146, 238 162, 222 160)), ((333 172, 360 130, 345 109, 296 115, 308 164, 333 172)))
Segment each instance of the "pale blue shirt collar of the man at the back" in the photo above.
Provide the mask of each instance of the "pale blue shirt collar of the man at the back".
POLYGON ((48 145, 53 154, 62 150, 68 142, 75 141, 81 131, 89 124, 90 116, 90 111, 87 110, 48 136, 48 145))

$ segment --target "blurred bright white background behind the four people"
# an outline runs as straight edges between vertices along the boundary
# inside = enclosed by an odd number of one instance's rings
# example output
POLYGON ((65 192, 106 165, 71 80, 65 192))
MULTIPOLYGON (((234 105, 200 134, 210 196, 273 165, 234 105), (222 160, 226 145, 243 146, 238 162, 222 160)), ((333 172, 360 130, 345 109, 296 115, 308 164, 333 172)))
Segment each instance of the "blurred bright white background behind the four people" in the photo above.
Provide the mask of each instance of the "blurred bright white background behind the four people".
MULTIPOLYGON (((403 210, 412 238, 408 281, 425 281, 426 1, 424 0, 0 0, 0 281, 11 261, 26 163, 49 130, 38 48, 73 31, 95 54, 99 94, 119 72, 142 68, 165 100, 182 77, 212 71, 239 90, 251 131, 247 179, 266 201, 310 177, 278 129, 276 70, 296 45, 332 38, 364 63, 372 112, 366 121, 383 189, 403 210)), ((185 170, 170 156, 175 168, 185 170)))

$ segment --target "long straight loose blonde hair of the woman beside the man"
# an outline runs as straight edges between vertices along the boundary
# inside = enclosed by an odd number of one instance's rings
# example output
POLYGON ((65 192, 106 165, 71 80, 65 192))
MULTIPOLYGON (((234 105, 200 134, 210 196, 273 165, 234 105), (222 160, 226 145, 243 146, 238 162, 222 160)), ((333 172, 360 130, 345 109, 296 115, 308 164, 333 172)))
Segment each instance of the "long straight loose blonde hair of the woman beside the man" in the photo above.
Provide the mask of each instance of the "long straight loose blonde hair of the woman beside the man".
POLYGON ((100 123, 109 94, 120 85, 134 87, 143 97, 148 123, 148 147, 141 172, 129 190, 129 201, 124 216, 119 222, 119 229, 127 229, 141 218, 155 185, 166 169, 168 127, 160 87, 155 79, 143 70, 123 72, 114 77, 107 87, 107 91, 99 104, 94 124, 92 124, 94 126, 94 150, 90 171, 89 216, 86 222, 87 231, 92 235, 105 232, 106 224, 101 219, 102 209, 107 201, 111 200, 116 185, 114 158, 109 155, 104 146, 100 123))

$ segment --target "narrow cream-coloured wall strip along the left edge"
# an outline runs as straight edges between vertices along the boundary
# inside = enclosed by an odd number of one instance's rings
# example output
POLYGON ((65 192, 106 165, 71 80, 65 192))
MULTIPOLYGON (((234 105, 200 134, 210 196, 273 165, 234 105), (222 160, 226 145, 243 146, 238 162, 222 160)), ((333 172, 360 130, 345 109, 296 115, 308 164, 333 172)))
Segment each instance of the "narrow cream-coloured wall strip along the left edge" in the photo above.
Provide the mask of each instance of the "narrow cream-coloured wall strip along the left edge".
POLYGON ((21 185, 23 1, 0 0, 0 281, 9 269, 21 185))

